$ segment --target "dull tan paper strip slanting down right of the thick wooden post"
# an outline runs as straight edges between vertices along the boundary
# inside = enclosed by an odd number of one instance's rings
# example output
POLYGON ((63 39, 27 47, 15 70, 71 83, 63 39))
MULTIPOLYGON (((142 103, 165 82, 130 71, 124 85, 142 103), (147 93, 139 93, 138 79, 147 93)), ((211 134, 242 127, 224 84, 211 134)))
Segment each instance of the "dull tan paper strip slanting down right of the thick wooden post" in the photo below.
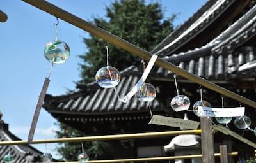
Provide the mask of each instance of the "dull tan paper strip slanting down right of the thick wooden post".
POLYGON ((250 140, 248 140, 248 139, 243 138, 242 136, 240 136, 240 135, 237 134, 236 132, 230 131, 230 129, 227 129, 226 127, 224 127, 224 126, 222 126, 222 125, 216 125, 216 126, 214 127, 214 129, 216 129, 216 130, 222 132, 223 134, 233 136, 234 138, 239 139, 240 141, 243 141, 243 142, 246 143, 247 145, 250 145, 250 146, 252 146, 253 148, 256 148, 256 144, 255 144, 255 143, 253 143, 252 141, 250 141, 250 140))

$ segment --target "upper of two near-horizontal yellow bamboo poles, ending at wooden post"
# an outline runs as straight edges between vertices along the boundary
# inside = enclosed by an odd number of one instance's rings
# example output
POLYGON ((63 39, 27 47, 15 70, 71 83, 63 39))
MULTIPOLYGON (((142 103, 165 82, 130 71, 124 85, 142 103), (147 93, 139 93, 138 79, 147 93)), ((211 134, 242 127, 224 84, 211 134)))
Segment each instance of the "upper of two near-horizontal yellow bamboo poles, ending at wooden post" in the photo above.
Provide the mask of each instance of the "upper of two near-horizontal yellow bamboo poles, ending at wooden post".
MULTIPOLYGON (((76 137, 76 138, 40 139, 40 140, 33 140, 32 143, 29 143, 29 144, 153 138, 153 137, 161 137, 161 136, 175 136, 178 134, 200 134, 200 133, 201 133, 200 129, 186 130, 186 131, 145 132, 145 133, 136 133, 136 134, 115 134, 115 135, 104 135, 104 136, 83 136, 83 137, 76 137)), ((0 145, 28 145, 28 141, 23 141, 23 140, 0 141, 0 145)))

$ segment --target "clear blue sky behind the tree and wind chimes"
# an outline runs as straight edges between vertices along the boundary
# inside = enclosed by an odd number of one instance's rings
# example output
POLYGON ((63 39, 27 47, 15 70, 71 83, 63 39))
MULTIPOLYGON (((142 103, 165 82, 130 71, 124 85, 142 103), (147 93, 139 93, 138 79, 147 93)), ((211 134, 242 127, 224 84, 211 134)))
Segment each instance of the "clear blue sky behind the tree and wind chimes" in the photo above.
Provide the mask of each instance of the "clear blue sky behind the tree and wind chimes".
MULTIPOLYGON (((206 0, 159 2, 163 5, 165 17, 179 13, 174 25, 180 25, 205 4, 206 0)), ((105 5, 110 4, 111 0, 49 0, 49 3, 84 20, 92 20, 93 15, 105 17, 105 5)), ((8 20, 0 23, 0 111, 3 112, 2 119, 9 124, 10 131, 26 140, 38 96, 51 67, 43 50, 46 43, 55 38, 56 17, 21 0, 1 0, 0 10, 8 15, 8 20)), ((88 32, 59 19, 58 39, 70 46, 71 54, 64 64, 54 65, 47 94, 59 96, 65 94, 67 89, 76 89, 74 82, 80 80, 79 63, 82 61, 78 55, 86 52, 83 38, 88 36, 88 32)), ((55 138, 53 130, 57 127, 54 122, 56 120, 42 108, 34 139, 55 138)), ((33 146, 45 152, 45 145, 33 146)), ((56 143, 46 146, 47 152, 58 158, 53 151, 56 143)))

